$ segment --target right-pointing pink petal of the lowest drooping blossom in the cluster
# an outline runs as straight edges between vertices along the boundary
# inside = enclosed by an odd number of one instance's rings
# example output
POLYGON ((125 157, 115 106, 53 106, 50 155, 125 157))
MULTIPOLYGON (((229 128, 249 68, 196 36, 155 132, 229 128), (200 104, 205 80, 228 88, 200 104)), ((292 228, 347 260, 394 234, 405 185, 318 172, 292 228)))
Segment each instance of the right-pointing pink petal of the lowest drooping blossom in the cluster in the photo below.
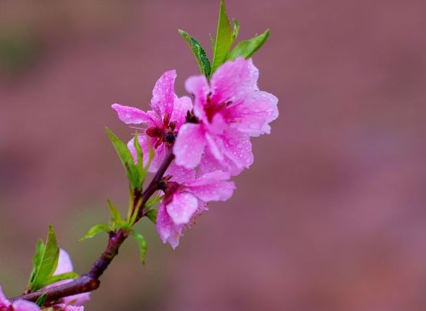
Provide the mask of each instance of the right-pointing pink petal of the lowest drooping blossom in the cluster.
POLYGON ((205 202, 226 201, 235 189, 235 183, 228 181, 229 177, 229 173, 222 171, 204 174, 199 179, 187 183, 188 191, 205 202))

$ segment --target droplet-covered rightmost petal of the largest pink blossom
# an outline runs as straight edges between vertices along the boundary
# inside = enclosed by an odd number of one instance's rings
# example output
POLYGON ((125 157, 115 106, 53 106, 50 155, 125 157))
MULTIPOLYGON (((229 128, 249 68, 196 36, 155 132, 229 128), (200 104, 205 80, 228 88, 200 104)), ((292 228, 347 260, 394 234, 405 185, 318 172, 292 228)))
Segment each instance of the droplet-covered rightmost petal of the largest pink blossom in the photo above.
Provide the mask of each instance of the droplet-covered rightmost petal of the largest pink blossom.
POLYGON ((277 119, 278 98, 268 92, 253 91, 235 105, 226 109, 227 121, 250 136, 269 134, 269 122, 277 119))

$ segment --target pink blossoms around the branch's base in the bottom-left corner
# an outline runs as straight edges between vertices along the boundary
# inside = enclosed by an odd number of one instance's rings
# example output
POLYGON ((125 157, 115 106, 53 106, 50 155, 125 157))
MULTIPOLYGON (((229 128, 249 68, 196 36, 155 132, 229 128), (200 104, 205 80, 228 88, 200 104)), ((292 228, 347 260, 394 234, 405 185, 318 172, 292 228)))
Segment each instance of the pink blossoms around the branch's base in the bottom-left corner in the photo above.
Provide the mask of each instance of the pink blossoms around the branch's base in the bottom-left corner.
MULTIPOLYGON (((57 263, 57 268, 55 270, 55 275, 64 274, 68 272, 72 272, 72 261, 70 256, 65 250, 59 250, 59 258, 57 263)), ((59 281, 56 283, 52 283, 46 286, 44 289, 53 288, 55 286, 59 286, 65 283, 72 281, 72 279, 59 281)), ((75 294, 73 296, 64 297, 59 299, 55 303, 55 305, 50 306, 49 308, 45 308, 43 310, 59 310, 59 311, 83 311, 83 304, 90 299, 90 293, 85 292, 83 294, 75 294)), ((9 301, 6 299, 6 296, 3 294, 0 286, 0 311, 40 311, 42 310, 39 305, 33 303, 31 301, 26 300, 17 300, 17 301, 9 301)))

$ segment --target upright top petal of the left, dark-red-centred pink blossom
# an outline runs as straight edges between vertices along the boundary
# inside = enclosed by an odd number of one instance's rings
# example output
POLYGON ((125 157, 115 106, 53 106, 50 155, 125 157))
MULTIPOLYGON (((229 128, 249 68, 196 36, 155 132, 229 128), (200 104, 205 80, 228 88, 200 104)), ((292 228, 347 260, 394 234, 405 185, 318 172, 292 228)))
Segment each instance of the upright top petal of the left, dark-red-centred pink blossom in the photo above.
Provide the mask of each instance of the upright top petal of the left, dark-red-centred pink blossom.
POLYGON ((151 107, 161 117, 164 117, 166 113, 171 114, 173 112, 173 103, 175 101, 175 79, 176 70, 170 70, 164 72, 161 77, 155 83, 153 89, 153 98, 151 99, 151 107))

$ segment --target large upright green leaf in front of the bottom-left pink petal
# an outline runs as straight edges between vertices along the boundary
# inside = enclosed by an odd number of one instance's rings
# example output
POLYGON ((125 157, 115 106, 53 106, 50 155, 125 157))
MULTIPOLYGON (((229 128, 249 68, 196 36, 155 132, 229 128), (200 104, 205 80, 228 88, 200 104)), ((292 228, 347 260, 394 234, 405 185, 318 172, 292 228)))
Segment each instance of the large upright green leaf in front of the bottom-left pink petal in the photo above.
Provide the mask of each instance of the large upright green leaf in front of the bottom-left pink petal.
POLYGON ((48 239, 43 254, 39 259, 39 266, 34 278, 30 281, 30 290, 33 292, 43 287, 43 283, 55 272, 59 259, 59 248, 55 230, 49 225, 48 239))

